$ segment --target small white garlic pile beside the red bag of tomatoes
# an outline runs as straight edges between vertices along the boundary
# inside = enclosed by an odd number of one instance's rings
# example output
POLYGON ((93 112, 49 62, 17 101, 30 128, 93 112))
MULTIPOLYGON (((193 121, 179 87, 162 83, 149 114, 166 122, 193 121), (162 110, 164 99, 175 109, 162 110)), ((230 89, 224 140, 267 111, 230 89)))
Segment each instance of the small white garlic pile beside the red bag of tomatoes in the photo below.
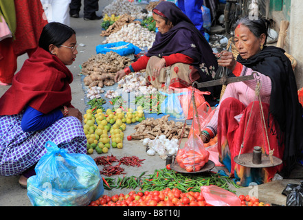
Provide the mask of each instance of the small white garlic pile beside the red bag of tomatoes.
POLYGON ((146 154, 148 156, 153 156, 158 153, 161 159, 166 159, 167 155, 177 155, 178 152, 178 139, 172 138, 169 140, 166 135, 160 135, 156 137, 155 140, 150 140, 149 138, 144 138, 142 140, 143 145, 148 147, 146 154))

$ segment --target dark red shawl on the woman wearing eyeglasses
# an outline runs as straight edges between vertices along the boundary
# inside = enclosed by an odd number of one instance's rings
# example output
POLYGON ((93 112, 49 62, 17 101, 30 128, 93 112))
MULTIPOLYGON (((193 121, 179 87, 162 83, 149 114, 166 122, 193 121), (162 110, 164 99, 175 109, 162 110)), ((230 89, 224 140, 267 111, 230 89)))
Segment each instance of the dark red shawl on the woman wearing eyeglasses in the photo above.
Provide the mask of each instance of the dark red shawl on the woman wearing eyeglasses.
POLYGON ((71 106, 72 81, 73 75, 62 61, 38 47, 0 98, 0 115, 21 113, 27 105, 45 114, 71 106))

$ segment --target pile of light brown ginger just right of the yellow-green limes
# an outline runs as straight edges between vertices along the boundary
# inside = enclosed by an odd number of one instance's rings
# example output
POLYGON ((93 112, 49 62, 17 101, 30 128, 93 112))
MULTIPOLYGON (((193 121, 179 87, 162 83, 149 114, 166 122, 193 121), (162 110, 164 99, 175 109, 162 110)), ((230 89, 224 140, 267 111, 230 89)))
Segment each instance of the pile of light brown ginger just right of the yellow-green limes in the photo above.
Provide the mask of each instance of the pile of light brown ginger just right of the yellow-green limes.
POLYGON ((134 127, 136 132, 131 134, 131 137, 135 140, 142 140, 144 138, 154 140, 160 135, 166 135, 166 138, 169 140, 172 140, 173 138, 180 139, 181 137, 188 137, 190 126, 187 124, 184 126, 183 122, 169 121, 169 116, 170 115, 164 115, 162 118, 147 118, 146 120, 143 120, 134 127))

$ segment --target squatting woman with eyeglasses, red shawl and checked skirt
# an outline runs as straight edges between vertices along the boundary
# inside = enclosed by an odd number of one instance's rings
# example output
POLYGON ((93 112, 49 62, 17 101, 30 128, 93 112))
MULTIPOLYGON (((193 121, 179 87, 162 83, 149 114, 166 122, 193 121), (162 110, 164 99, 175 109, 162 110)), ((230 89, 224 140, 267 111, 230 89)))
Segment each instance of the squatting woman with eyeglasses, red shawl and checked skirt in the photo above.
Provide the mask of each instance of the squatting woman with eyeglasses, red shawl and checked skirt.
POLYGON ((48 23, 38 45, 0 98, 0 175, 21 175, 21 186, 35 175, 47 141, 68 153, 87 152, 82 114, 71 104, 73 75, 66 67, 78 54, 76 32, 48 23))

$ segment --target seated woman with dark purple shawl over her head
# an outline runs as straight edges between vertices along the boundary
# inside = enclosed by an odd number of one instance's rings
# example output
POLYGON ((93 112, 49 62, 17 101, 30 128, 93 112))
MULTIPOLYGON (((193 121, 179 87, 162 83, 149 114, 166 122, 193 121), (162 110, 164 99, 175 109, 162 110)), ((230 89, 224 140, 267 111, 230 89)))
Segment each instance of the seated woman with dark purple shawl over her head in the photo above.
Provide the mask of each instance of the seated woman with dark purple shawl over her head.
MULTIPOLYGON (((130 67, 117 72, 116 82, 141 69, 146 69, 146 83, 157 89, 184 88, 194 81, 212 80, 218 67, 216 57, 186 14, 175 3, 162 1, 153 9, 153 18, 159 30, 153 47, 130 67)), ((220 96, 221 86, 204 91, 210 91, 211 95, 205 99, 212 104, 220 96)))

